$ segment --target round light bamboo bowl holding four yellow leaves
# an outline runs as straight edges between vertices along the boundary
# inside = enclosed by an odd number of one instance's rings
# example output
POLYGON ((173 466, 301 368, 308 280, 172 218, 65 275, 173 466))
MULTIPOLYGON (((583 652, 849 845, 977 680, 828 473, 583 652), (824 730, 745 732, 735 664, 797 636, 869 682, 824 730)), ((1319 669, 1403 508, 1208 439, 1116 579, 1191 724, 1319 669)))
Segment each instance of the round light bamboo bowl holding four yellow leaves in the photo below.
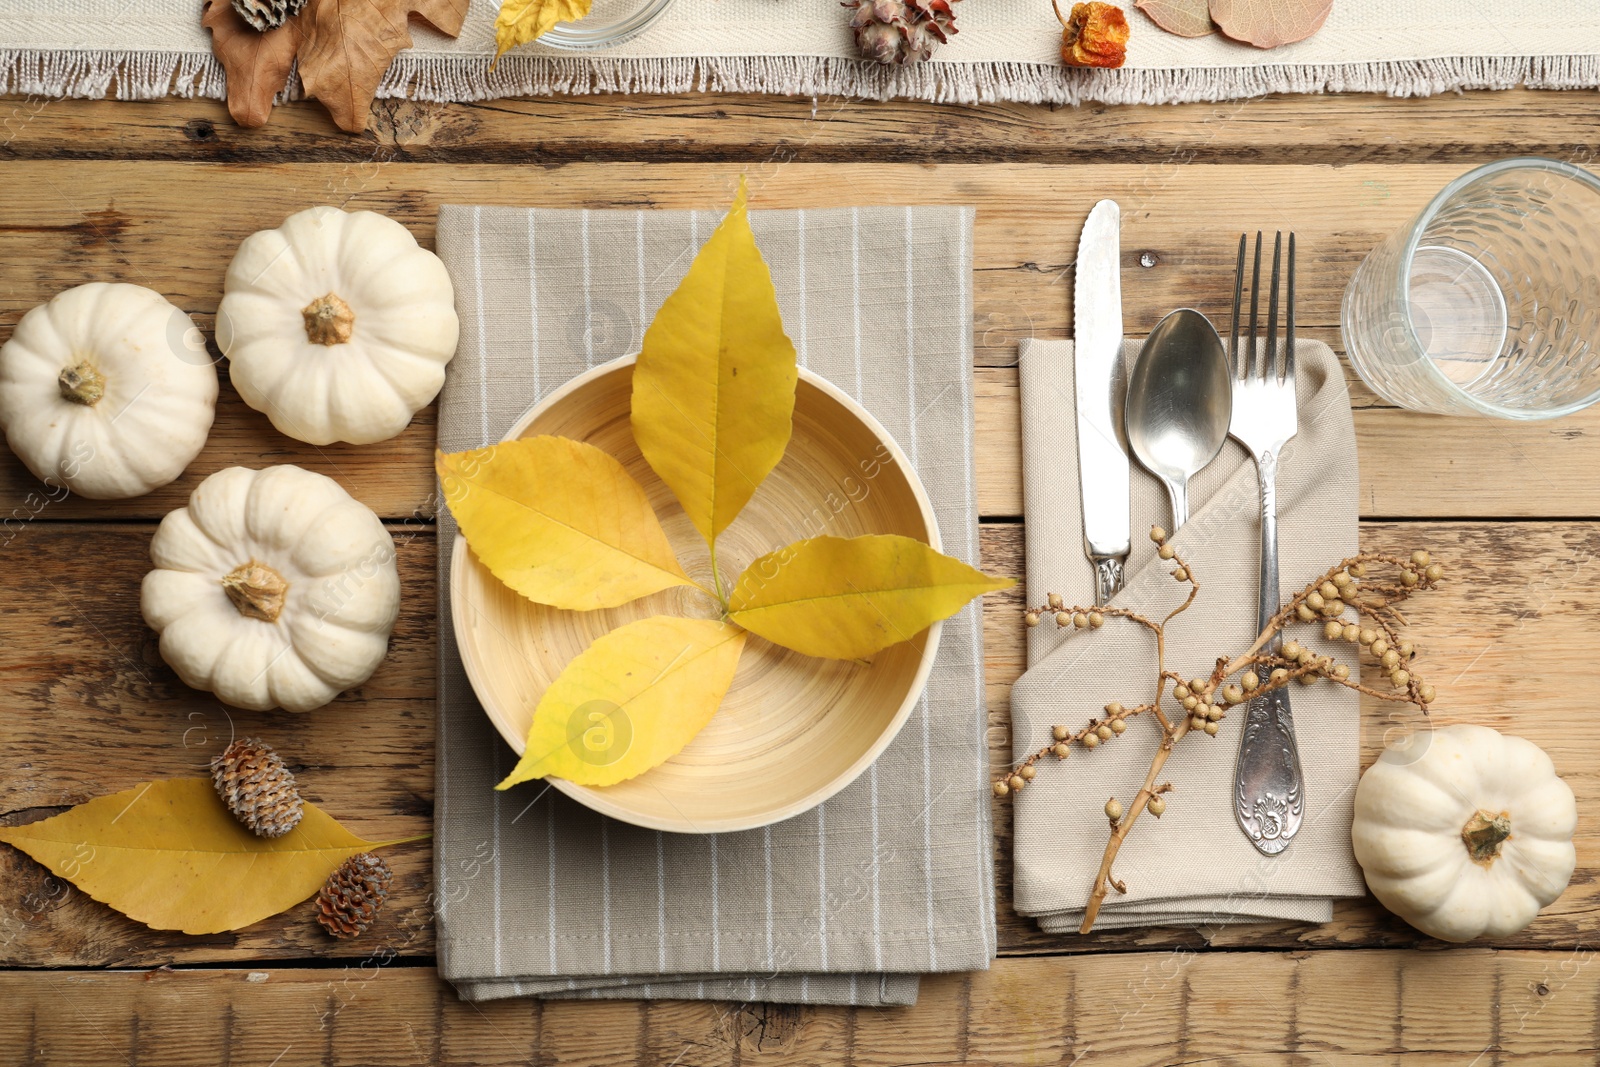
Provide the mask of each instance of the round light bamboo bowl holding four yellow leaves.
MULTIPOLYGON (((710 587, 706 542, 634 443, 632 382, 634 357, 597 366, 534 405, 506 440, 558 434, 614 456, 645 486, 683 569, 710 587)), ((854 400, 802 370, 789 450, 717 542, 723 581, 792 541, 872 533, 939 547, 928 496, 899 446, 854 400)), ((654 614, 720 611, 690 589, 602 611, 546 608, 496 581, 464 537, 451 552, 461 659, 483 710, 518 755, 544 689, 590 641, 654 614)), ((550 784, 602 814, 680 833, 749 830, 797 816, 845 789, 890 745, 928 681, 941 625, 870 664, 811 659, 750 633, 720 710, 683 752, 616 785, 550 784)))

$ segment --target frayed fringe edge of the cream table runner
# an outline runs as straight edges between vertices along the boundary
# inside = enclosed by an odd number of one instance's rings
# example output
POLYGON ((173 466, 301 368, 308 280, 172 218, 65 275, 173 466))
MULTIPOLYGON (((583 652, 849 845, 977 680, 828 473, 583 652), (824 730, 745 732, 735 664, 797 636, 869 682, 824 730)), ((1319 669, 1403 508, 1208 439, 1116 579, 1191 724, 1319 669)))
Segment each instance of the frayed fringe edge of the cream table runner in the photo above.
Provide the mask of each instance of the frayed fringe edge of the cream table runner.
MULTIPOLYGON (((568 58, 402 53, 381 98, 482 101, 587 93, 778 93, 920 99, 938 104, 1184 104, 1267 93, 1387 93, 1600 88, 1600 56, 1464 56, 1328 66, 1072 70, 1029 62, 925 62, 885 67, 830 56, 568 58)), ((202 53, 0 50, 0 93, 152 99, 222 99, 221 64, 202 53)), ((299 96, 291 83, 282 99, 299 96)))

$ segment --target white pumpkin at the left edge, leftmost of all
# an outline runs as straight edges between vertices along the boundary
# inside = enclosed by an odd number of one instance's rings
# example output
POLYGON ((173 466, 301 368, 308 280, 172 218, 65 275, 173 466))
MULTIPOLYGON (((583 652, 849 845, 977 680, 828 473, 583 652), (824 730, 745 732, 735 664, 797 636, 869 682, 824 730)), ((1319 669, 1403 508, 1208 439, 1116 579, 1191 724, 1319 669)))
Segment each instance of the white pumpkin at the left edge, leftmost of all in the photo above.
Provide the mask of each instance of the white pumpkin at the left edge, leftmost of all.
POLYGON ((0 429, 35 477, 142 496, 200 454, 216 414, 205 339, 160 293, 91 282, 29 310, 0 346, 0 429))

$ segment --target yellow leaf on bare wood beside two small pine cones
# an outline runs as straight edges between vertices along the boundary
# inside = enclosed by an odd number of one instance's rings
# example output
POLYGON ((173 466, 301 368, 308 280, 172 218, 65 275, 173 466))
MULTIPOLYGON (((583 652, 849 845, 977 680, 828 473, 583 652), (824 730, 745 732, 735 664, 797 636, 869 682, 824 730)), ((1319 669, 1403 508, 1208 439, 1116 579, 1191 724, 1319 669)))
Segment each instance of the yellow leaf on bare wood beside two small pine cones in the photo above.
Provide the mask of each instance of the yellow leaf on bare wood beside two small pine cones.
POLYGON ((53 873, 152 929, 218 934, 317 893, 363 841, 306 805, 298 827, 256 837, 208 777, 174 777, 96 797, 42 822, 0 829, 53 873))

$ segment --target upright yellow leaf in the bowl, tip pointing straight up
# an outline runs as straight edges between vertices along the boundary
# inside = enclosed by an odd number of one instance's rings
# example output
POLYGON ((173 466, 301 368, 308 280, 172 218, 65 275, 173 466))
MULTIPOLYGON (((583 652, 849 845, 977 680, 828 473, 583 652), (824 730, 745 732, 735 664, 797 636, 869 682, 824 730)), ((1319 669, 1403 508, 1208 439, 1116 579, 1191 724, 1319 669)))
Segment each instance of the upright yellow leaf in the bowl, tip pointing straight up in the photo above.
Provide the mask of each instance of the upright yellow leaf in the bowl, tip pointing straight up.
POLYGON ((784 458, 795 408, 795 347, 744 198, 741 179, 634 368, 634 438, 707 542, 784 458))

